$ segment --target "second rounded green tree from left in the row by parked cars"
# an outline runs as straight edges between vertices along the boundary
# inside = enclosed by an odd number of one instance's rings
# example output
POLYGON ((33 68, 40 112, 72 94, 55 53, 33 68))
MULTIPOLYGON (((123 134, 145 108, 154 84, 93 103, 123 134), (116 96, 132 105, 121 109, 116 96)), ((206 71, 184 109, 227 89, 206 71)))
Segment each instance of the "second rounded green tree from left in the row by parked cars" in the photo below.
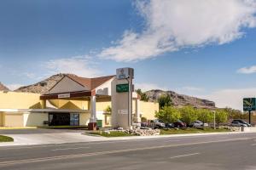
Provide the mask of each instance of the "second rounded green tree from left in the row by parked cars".
POLYGON ((197 112, 195 111, 194 107, 192 106, 184 106, 180 109, 182 121, 187 123, 187 125, 195 122, 198 118, 197 112))

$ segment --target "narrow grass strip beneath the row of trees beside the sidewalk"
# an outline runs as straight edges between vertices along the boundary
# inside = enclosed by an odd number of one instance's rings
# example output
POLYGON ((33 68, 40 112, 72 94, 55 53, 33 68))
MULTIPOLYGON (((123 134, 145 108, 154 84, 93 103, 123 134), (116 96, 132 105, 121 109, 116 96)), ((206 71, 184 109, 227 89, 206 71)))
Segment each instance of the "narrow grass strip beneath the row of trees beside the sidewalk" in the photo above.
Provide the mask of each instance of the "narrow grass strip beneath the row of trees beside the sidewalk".
POLYGON ((184 134, 184 133, 221 133, 230 132, 227 128, 179 128, 179 129, 161 129, 160 134, 184 134))

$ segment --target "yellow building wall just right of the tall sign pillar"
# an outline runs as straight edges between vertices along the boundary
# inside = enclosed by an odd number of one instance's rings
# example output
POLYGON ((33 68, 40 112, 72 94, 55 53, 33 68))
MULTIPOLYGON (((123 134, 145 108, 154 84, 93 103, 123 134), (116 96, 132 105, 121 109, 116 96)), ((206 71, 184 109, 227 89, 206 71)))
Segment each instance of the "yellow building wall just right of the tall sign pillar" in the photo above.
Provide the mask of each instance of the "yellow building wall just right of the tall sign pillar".
POLYGON ((154 112, 159 111, 159 104, 140 101, 140 110, 143 117, 146 117, 148 120, 154 120, 154 112))

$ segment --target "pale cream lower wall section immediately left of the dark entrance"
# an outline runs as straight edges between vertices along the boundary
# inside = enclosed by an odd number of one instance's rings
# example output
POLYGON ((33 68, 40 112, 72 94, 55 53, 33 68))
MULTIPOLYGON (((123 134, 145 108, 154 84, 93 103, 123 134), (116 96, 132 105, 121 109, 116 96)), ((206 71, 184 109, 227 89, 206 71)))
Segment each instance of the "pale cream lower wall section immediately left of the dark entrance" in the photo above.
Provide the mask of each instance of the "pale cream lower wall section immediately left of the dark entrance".
POLYGON ((24 127, 43 126, 44 121, 48 121, 47 113, 24 113, 24 127))

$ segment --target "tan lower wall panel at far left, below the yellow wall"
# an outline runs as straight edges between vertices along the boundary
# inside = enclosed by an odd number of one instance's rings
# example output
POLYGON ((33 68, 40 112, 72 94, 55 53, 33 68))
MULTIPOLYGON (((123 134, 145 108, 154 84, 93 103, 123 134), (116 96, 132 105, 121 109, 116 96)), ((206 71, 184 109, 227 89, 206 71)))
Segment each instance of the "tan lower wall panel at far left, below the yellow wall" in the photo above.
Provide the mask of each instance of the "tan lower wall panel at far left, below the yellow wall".
POLYGON ((23 127, 23 114, 22 113, 4 113, 3 116, 4 127, 23 127))

